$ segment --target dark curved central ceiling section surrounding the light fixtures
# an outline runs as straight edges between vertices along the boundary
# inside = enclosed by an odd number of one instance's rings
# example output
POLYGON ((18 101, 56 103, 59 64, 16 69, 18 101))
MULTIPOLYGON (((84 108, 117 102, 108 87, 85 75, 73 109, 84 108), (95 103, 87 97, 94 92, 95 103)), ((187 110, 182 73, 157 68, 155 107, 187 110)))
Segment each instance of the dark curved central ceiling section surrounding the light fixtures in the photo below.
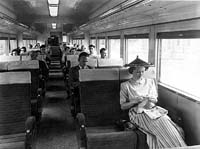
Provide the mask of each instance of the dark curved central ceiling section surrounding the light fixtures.
POLYGON ((50 17, 47 0, 0 0, 13 7, 17 21, 43 33, 51 30, 51 23, 57 29, 70 32, 73 28, 86 23, 89 16, 109 0, 60 0, 57 17, 50 17))

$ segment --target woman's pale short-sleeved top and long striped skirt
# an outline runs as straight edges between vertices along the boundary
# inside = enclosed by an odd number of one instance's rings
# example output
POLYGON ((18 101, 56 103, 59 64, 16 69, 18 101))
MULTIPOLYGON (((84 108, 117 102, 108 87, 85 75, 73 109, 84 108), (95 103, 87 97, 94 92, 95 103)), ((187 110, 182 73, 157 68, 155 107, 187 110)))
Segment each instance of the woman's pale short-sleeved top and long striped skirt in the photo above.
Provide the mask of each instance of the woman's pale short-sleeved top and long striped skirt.
MULTIPOLYGON (((157 98, 154 80, 143 78, 135 81, 131 79, 121 84, 120 104, 131 100, 137 103, 136 97, 147 95, 157 98)), ((144 112, 137 113, 137 107, 134 107, 129 110, 129 118, 147 135, 147 144, 150 149, 186 146, 182 129, 167 115, 151 119, 144 112)))

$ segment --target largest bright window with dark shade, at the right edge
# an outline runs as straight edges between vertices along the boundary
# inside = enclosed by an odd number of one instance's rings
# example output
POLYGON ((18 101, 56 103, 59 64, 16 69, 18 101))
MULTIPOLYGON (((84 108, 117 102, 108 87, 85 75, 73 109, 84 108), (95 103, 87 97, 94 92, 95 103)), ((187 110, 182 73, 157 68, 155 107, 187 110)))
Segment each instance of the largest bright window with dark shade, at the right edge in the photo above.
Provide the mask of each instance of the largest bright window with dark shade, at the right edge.
POLYGON ((158 34, 160 82, 200 97, 200 31, 158 34))

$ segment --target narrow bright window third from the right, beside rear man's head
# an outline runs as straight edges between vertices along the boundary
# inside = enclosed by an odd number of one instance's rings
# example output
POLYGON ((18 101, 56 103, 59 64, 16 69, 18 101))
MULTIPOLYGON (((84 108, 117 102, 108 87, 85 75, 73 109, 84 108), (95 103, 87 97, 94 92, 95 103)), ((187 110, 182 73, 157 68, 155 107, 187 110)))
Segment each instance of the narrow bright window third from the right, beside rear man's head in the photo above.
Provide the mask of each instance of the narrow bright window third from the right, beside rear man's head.
POLYGON ((120 58, 120 38, 109 37, 108 44, 110 58, 120 58))

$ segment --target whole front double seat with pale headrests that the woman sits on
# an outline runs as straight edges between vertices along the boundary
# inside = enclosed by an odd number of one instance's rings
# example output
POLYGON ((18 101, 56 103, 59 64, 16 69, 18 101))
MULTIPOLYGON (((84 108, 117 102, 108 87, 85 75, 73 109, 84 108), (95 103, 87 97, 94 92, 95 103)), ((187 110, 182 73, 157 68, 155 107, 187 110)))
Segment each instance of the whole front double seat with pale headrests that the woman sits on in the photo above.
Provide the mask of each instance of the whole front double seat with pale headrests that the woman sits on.
MULTIPOLYGON (((145 74, 154 78, 152 68, 145 74)), ((76 102, 80 147, 87 149, 145 149, 146 136, 139 130, 121 131, 115 123, 127 120, 120 108, 120 84, 132 75, 127 68, 81 69, 79 101, 76 102)))

